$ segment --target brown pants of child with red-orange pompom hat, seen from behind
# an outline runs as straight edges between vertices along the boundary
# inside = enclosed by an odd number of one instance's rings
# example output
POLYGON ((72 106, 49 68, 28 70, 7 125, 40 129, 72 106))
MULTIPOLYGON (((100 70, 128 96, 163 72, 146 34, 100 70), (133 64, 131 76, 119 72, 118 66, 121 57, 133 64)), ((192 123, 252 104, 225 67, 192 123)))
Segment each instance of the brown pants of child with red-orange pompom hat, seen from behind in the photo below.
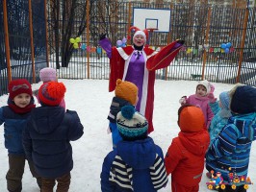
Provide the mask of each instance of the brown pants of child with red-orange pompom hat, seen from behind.
POLYGON ((70 172, 64 176, 56 179, 41 178, 41 192, 53 192, 53 187, 55 185, 55 180, 57 180, 57 190, 56 192, 67 192, 70 185, 71 175, 70 172))

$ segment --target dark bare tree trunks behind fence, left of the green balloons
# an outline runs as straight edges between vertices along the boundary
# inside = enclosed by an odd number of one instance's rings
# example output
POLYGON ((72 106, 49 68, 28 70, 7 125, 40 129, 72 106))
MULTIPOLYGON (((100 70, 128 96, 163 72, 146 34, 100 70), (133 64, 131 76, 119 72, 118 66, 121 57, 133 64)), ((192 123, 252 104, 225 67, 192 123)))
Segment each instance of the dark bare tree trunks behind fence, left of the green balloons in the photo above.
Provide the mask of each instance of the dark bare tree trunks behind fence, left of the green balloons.
MULTIPOLYGON (((89 2, 91 4, 93 0, 89 2)), ((69 39, 81 36, 87 27, 87 12, 91 12, 87 10, 87 3, 88 1, 80 0, 51 0, 48 2, 51 20, 49 42, 55 50, 57 68, 61 67, 59 56, 61 56, 62 67, 68 67, 74 51, 69 39), (77 22, 78 20, 79 22, 77 22)))

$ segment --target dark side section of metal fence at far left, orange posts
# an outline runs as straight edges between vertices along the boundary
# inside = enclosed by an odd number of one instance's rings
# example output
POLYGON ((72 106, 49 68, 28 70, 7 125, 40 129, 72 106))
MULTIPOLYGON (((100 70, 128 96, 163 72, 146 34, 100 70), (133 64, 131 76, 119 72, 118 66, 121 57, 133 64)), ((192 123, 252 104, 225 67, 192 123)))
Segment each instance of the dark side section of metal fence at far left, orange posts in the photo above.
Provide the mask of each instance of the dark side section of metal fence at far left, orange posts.
POLYGON ((44 1, 0 1, 0 95, 8 83, 24 78, 38 82, 47 65, 44 1))

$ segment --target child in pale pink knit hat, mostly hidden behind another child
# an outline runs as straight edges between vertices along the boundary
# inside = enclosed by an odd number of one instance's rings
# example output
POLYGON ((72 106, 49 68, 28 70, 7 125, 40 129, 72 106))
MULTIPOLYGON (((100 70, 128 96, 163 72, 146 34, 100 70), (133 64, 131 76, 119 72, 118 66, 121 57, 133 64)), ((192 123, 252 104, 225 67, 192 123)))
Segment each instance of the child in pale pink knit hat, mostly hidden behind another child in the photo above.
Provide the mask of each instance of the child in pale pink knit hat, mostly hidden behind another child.
MULTIPOLYGON (((39 78, 40 81, 42 83, 47 83, 47 82, 58 82, 58 77, 57 77, 57 72, 54 68, 51 67, 45 67, 42 68, 39 71, 39 78)), ((34 90, 33 93, 36 95, 37 99, 38 99, 38 90, 34 90)), ((38 100, 38 104, 39 104, 39 100, 38 100)), ((61 103, 60 103, 60 107, 65 108, 65 102, 64 99, 62 99, 61 103)))

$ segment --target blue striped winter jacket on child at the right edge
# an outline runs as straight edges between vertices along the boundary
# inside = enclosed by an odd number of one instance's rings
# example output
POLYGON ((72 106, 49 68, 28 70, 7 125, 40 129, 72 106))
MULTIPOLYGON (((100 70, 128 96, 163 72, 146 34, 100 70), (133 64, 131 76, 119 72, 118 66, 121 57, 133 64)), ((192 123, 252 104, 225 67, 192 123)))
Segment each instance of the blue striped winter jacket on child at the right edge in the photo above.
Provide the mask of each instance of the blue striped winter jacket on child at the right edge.
POLYGON ((206 155, 206 169, 220 172, 229 181, 228 173, 247 176, 251 143, 256 139, 256 112, 234 115, 214 139, 206 155))

